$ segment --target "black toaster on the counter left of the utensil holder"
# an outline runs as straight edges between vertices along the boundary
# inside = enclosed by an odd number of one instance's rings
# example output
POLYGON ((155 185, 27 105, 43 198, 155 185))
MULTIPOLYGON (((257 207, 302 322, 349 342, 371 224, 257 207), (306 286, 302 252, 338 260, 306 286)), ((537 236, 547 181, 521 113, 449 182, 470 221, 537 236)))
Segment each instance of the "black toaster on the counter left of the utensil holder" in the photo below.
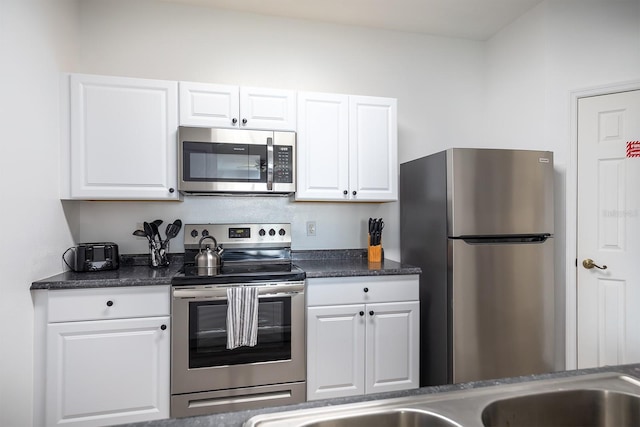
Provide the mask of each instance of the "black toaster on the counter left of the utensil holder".
POLYGON ((62 259, 70 269, 77 272, 116 270, 120 266, 118 245, 113 242, 78 243, 67 249, 62 259), (69 251, 73 251, 71 262, 65 256, 69 251))

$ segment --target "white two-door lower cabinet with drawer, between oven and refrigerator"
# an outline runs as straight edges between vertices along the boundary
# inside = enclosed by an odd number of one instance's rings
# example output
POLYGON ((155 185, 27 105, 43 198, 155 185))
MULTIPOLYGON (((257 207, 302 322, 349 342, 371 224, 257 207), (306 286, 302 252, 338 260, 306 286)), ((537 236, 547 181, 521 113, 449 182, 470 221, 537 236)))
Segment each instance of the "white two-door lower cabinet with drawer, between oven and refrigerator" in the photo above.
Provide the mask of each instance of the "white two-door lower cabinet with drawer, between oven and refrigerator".
POLYGON ((308 279, 307 399, 417 388, 418 298, 414 275, 308 279))

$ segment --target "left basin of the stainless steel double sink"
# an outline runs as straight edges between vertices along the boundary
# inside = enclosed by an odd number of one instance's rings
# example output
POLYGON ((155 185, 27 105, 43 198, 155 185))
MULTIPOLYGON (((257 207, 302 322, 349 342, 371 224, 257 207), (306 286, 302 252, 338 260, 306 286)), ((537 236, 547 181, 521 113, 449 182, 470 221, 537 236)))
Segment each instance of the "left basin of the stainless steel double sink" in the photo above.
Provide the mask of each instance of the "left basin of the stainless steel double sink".
POLYGON ((414 409, 392 409, 381 412, 352 414, 342 418, 322 419, 304 427, 461 427, 437 414, 414 409))

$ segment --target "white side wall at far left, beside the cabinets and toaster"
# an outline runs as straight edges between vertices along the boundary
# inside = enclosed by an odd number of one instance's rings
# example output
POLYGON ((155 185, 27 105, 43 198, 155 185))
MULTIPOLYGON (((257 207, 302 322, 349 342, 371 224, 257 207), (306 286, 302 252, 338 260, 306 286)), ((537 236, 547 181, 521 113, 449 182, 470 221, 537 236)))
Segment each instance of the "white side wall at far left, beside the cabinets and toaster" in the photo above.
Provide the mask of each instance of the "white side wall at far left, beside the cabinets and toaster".
MULTIPOLYGON (((58 195, 59 72, 73 67, 76 7, 0 2, 0 425, 31 425, 31 282, 61 271, 71 243, 58 195)), ((72 210, 67 212, 73 215, 72 210)))

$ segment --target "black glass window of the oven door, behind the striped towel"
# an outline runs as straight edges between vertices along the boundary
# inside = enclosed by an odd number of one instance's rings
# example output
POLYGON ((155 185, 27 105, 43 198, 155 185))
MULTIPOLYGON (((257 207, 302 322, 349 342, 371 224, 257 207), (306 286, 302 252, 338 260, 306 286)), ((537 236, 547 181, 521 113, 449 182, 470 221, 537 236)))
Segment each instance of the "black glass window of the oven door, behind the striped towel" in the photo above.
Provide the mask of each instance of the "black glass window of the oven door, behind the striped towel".
POLYGON ((291 359, 291 298, 260 298, 258 343, 227 350, 227 302, 189 303, 189 368, 291 359))

